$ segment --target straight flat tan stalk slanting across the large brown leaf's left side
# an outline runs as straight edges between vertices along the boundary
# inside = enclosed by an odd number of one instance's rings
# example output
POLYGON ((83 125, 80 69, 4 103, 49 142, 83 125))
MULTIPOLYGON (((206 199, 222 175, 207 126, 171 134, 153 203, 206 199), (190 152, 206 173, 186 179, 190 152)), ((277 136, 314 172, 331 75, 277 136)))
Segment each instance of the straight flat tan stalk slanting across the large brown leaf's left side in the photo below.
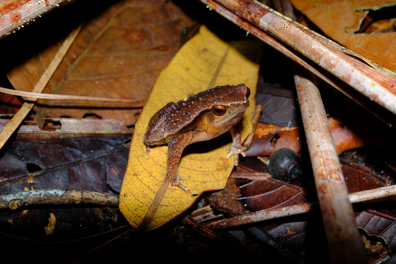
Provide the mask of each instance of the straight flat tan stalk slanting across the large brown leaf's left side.
MULTIPOLYGON (((53 73, 58 68, 59 64, 65 57, 67 51, 69 50, 70 46, 73 44, 74 40, 76 39, 78 33, 80 32, 82 25, 75 28, 69 36, 65 39, 62 46, 59 48, 58 52, 55 54, 55 57, 52 59, 51 63, 49 64, 48 68, 44 71, 43 75, 38 80, 37 84, 34 86, 32 92, 33 93, 41 93, 46 85, 51 79, 53 73)), ((30 101, 36 102, 37 98, 32 98, 30 101)), ((13 116, 11 121, 3 128, 0 133, 0 149, 6 144, 8 139, 11 135, 17 130, 21 122, 25 119, 27 114, 29 114, 30 110, 32 110, 34 103, 23 103, 21 108, 18 112, 13 116)))

